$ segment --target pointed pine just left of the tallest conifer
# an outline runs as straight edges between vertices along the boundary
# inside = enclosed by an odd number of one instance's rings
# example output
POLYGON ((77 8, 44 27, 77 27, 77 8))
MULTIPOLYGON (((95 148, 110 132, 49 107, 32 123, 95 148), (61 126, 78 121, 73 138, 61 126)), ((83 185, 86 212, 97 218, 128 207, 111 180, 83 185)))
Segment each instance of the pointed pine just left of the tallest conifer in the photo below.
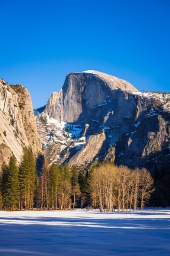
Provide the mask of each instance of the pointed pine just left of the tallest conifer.
POLYGON ((7 166, 7 173, 5 175, 7 182, 3 193, 4 207, 13 210, 19 204, 19 168, 16 163, 14 155, 10 157, 9 165, 7 166))

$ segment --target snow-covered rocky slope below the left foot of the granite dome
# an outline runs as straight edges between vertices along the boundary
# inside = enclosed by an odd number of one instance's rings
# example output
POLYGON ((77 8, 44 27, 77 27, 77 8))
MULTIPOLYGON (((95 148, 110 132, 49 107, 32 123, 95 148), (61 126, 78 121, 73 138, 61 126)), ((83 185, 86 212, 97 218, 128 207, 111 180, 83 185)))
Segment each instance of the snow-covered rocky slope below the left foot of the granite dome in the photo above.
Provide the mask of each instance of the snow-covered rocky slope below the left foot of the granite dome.
POLYGON ((52 162, 60 161, 68 150, 78 150, 86 144, 87 138, 81 135, 83 129, 80 125, 58 121, 44 112, 38 113, 35 118, 42 149, 48 152, 52 162), (55 157, 49 151, 55 151, 55 157))

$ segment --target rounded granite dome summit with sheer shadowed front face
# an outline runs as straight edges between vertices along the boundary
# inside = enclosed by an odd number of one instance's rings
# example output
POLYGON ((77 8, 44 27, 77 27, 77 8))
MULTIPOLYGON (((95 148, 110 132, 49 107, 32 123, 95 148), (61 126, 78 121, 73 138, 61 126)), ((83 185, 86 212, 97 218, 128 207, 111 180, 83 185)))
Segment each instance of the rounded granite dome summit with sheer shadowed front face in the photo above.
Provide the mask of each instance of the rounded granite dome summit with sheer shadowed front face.
POLYGON ((97 71, 69 73, 63 88, 50 96, 45 113, 66 123, 77 122, 101 104, 112 90, 118 89, 137 91, 128 82, 97 71))

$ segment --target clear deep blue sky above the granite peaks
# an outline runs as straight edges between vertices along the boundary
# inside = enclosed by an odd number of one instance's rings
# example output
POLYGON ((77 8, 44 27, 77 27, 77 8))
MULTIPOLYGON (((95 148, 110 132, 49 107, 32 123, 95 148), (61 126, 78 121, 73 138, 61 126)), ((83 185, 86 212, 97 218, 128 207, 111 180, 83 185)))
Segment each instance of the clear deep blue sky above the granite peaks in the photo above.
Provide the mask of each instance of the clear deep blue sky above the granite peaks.
POLYGON ((66 74, 94 69, 170 91, 169 0, 0 0, 0 77, 47 103, 66 74))

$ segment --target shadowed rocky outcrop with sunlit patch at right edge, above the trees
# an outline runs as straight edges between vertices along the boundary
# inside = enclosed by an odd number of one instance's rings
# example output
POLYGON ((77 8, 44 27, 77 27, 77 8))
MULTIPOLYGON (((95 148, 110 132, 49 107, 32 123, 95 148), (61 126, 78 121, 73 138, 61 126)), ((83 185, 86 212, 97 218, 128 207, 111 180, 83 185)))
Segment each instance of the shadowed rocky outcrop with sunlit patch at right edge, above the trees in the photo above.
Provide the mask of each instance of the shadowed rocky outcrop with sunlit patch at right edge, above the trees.
POLYGON ((170 113, 160 110, 144 116, 134 132, 117 142, 114 160, 131 168, 169 169, 170 113))

